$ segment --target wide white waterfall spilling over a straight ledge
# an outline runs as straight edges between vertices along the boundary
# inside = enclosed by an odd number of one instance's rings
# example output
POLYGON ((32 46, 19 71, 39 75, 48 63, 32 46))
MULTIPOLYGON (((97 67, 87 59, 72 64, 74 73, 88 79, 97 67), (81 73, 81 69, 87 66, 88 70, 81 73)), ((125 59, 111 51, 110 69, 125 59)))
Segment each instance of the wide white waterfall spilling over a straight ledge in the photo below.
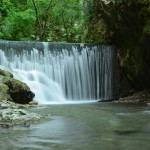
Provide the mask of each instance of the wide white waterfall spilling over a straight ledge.
POLYGON ((112 98, 113 55, 112 46, 0 42, 0 65, 39 103, 112 98))

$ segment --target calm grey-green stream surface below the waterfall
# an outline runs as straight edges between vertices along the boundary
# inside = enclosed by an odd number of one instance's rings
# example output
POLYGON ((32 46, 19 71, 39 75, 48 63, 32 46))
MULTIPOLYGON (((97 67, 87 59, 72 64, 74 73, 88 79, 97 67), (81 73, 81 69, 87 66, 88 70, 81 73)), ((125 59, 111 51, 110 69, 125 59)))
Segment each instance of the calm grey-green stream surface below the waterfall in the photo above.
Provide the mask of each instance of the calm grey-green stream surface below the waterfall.
POLYGON ((150 108, 116 103, 44 105, 46 119, 0 129, 1 150, 149 150, 150 108))

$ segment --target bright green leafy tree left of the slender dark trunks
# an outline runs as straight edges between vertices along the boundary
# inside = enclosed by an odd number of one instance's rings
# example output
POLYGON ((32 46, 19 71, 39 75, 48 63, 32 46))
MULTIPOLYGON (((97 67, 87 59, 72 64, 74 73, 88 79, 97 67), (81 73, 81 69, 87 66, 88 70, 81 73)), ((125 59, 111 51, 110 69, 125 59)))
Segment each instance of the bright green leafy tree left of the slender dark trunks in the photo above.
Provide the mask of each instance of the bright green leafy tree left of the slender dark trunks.
MULTIPOLYGON (((32 9, 28 9, 23 1, 1 1, 0 38, 8 40, 31 40, 34 37, 32 9), (20 3, 21 2, 21 3, 20 3)), ((24 1, 25 2, 25 1, 24 1)))

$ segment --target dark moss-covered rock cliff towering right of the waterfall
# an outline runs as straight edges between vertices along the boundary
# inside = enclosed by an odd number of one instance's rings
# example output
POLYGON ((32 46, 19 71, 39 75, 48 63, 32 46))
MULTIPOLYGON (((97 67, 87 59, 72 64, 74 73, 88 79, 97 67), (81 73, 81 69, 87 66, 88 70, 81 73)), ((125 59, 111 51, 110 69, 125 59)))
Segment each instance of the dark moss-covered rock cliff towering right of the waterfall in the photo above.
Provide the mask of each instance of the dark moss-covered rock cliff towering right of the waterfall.
POLYGON ((116 45, 126 77, 137 88, 150 88, 150 1, 94 0, 94 3, 90 41, 116 45))

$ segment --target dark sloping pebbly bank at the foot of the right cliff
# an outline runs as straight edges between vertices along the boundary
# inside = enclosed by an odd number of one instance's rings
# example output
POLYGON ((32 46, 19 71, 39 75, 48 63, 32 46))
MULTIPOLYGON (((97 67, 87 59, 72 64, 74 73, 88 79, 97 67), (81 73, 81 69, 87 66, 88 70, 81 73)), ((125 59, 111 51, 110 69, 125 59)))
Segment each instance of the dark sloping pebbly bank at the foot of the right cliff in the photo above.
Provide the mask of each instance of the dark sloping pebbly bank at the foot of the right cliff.
POLYGON ((146 103, 150 104, 150 90, 134 92, 133 94, 114 100, 115 103, 146 103))

